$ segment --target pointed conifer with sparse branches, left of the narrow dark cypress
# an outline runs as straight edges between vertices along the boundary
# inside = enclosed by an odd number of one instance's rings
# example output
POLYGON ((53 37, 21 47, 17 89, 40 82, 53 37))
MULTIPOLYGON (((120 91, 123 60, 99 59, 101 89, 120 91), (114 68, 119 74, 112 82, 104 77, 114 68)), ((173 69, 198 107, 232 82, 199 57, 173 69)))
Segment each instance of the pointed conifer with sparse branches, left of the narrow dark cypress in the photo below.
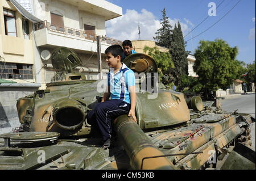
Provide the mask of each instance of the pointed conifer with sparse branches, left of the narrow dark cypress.
POLYGON ((166 16, 166 9, 164 8, 163 11, 163 18, 161 19, 161 28, 155 33, 156 36, 153 37, 156 40, 156 45, 160 47, 169 48, 171 43, 171 24, 169 22, 168 17, 166 16))

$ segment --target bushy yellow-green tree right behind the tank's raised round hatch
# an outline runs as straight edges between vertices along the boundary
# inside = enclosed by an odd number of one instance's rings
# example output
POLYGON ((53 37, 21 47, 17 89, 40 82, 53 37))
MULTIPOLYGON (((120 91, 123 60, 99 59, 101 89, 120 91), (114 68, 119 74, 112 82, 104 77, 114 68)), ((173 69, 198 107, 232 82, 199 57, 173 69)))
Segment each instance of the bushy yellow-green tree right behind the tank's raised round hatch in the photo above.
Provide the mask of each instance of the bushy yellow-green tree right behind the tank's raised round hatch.
POLYGON ((143 48, 143 52, 154 58, 156 65, 158 65, 159 81, 166 86, 172 87, 173 85, 170 82, 166 83, 163 80, 164 75, 171 77, 172 69, 174 69, 171 54, 169 52, 160 52, 157 47, 151 48, 147 46, 143 48))

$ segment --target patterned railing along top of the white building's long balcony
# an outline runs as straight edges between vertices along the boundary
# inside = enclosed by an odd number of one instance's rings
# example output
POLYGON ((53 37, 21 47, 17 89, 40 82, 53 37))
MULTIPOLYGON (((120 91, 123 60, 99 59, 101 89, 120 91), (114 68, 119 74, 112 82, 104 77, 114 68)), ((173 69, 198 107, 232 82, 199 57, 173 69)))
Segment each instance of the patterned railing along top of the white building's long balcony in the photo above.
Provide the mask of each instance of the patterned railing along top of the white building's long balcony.
MULTIPOLYGON (((35 24, 35 31, 41 30, 44 28, 47 28, 48 31, 57 32, 57 33, 61 33, 64 35, 72 35, 72 36, 81 37, 83 39, 93 40, 93 41, 96 41, 96 36, 100 36, 100 35, 96 35, 94 33, 87 33, 84 30, 77 30, 77 29, 69 28, 69 27, 57 27, 57 26, 47 22, 47 20, 45 20, 43 22, 38 22, 35 24)), ((120 41, 120 40, 115 40, 115 39, 112 39, 112 38, 106 37, 106 36, 100 36, 100 37, 101 37, 101 42, 105 42, 110 45, 118 44, 118 45, 122 46, 122 41, 120 41)))

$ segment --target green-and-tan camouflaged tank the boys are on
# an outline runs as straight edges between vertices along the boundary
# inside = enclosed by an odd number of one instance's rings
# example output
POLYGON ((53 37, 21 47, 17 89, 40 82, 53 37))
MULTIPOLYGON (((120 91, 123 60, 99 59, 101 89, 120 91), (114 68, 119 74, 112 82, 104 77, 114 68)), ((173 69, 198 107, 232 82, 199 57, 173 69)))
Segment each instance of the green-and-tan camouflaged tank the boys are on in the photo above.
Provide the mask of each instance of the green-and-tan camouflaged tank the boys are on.
POLYGON ((156 62, 142 53, 123 61, 138 73, 137 123, 127 115, 113 120, 113 144, 101 148, 87 114, 101 102, 97 90, 106 80, 73 72, 81 60, 71 49, 57 48, 51 60, 51 83, 17 100, 21 125, 0 135, 0 169, 255 169, 255 119, 223 111, 216 99, 185 99, 165 89, 154 74, 156 62))

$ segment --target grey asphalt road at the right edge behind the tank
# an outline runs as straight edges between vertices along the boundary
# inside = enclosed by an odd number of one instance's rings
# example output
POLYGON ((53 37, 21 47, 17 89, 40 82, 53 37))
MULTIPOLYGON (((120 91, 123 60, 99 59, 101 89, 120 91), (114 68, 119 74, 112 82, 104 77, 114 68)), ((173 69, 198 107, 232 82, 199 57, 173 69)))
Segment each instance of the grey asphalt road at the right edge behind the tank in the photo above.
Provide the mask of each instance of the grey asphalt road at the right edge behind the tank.
MULTIPOLYGON (((238 109, 240 113, 250 113, 255 118, 255 93, 246 95, 229 95, 221 100, 222 109, 233 112, 238 109)), ((251 141, 255 150, 255 123, 251 125, 251 141)))

